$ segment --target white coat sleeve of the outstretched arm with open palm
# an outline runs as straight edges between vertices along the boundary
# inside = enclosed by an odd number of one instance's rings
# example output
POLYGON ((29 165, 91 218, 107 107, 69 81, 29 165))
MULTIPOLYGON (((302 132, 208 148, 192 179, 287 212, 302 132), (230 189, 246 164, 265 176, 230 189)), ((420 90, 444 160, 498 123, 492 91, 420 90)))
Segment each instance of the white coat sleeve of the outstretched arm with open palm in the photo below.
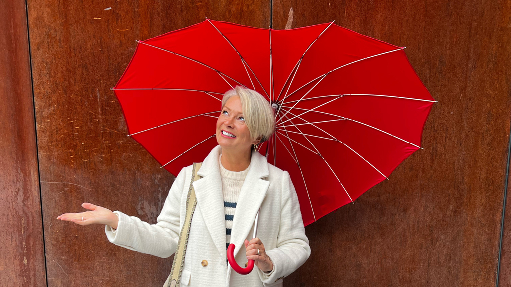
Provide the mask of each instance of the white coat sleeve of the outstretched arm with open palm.
POLYGON ((172 183, 156 224, 114 211, 119 217, 119 224, 117 229, 108 225, 105 227, 108 240, 130 250, 163 258, 174 254, 179 238, 180 202, 184 181, 185 168, 181 169, 172 183))

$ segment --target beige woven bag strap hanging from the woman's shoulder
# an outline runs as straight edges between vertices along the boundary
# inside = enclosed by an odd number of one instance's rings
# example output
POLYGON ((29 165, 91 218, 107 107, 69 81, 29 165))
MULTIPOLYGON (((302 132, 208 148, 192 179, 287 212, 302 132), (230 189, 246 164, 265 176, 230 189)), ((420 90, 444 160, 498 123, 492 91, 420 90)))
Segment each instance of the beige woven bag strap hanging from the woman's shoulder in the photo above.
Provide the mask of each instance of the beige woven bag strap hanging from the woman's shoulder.
POLYGON ((184 223, 179 233, 179 240, 177 242, 176 253, 174 254, 174 261, 172 262, 172 269, 170 270, 169 277, 164 283, 164 287, 179 287, 181 281, 181 272, 183 271, 184 254, 187 251, 188 235, 190 234, 190 225, 192 223, 192 216, 197 205, 197 198, 195 197, 195 190, 192 183, 200 178, 197 172, 202 163, 194 163, 192 168, 192 180, 188 188, 187 196, 187 209, 184 217, 184 223))

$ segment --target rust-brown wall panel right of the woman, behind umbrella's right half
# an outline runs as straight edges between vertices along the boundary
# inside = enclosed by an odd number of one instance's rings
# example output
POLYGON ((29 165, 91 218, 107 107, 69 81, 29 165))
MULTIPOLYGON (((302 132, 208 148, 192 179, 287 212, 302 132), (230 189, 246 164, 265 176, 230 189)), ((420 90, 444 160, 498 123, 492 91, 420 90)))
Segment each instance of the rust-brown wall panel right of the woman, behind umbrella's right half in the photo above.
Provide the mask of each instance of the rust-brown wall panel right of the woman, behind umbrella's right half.
POLYGON ((509 3, 274 0, 275 29, 291 8, 292 28, 335 20, 406 46, 439 103, 424 150, 307 227, 312 255, 285 285, 494 285, 511 110, 509 3))

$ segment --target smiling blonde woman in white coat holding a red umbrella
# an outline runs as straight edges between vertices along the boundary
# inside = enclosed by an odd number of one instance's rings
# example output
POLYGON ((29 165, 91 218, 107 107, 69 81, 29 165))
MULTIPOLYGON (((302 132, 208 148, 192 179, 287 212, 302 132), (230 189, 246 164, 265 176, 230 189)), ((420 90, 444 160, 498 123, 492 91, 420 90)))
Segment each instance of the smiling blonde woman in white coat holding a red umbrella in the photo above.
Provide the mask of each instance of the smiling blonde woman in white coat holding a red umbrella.
MULTIPOLYGON (((181 273, 181 286, 282 286, 309 258, 309 240, 289 173, 256 151, 274 131, 275 118, 260 93, 237 86, 222 98, 216 123, 218 146, 202 162, 193 182, 193 213, 181 273), (258 210, 258 237, 251 238, 258 210), (238 264, 253 259, 247 275, 230 268, 226 248, 235 244, 238 264), (244 246, 245 252, 241 247, 244 246)), ((156 224, 120 211, 84 203, 91 211, 57 219, 79 225, 105 224, 108 240, 131 250, 169 257, 183 225, 192 165, 177 175, 156 224)))

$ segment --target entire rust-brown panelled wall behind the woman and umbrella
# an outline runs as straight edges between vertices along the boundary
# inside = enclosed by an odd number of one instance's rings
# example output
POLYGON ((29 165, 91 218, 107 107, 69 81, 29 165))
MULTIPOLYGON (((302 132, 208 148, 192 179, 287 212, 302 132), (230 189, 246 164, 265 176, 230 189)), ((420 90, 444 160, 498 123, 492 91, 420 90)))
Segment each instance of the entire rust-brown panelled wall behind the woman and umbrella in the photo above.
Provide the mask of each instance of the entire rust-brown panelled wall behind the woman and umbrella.
MULTIPOLYGON (((44 264, 48 286, 165 280, 172 258, 114 246, 102 226, 55 218, 88 201, 156 221, 173 177, 126 137, 109 90, 135 40, 204 17, 268 28, 272 9, 274 29, 335 20, 406 46, 439 101, 425 125, 424 150, 355 204, 308 226, 312 255, 284 285, 495 285, 511 122, 509 2, 27 0, 35 102, 25 2, 13 3, 0 11, 0 47, 7 52, 0 64, 8 67, 0 69, 0 223, 15 234, 0 234, 0 251, 12 246, 0 259, 2 284, 10 276, 8 285, 45 285, 44 264)), ((500 286, 511 284, 510 212, 508 206, 500 286)))

